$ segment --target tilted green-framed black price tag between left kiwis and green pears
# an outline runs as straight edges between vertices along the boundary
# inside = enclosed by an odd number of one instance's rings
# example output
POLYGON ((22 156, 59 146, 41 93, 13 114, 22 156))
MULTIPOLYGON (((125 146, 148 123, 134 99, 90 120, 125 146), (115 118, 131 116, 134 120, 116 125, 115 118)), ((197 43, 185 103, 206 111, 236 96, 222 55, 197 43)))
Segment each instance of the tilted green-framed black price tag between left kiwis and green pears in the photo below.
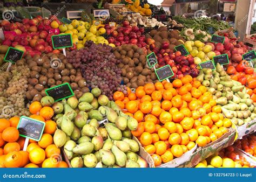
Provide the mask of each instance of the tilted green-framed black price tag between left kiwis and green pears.
POLYGON ((53 97, 55 101, 63 100, 74 95, 69 83, 64 83, 45 90, 46 95, 53 97))

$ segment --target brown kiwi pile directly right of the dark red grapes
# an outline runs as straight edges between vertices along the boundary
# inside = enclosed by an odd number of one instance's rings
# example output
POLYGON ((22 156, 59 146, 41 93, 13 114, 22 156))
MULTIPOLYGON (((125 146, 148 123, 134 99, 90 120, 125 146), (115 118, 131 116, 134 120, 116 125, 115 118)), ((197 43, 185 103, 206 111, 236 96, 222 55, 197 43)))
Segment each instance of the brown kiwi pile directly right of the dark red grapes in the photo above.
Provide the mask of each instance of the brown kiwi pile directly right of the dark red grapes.
POLYGON ((130 88, 144 86, 146 83, 157 82, 154 68, 147 64, 147 52, 137 45, 124 44, 114 47, 113 53, 121 62, 117 66, 122 69, 124 84, 130 88))

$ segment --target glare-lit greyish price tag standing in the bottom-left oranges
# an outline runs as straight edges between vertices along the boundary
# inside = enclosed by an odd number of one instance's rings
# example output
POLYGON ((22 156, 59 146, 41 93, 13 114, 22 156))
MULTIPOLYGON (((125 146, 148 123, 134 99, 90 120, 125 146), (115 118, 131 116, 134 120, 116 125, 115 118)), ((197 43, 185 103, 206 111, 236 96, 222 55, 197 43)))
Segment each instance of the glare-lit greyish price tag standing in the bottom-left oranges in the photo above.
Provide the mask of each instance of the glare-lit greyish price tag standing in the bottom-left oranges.
POLYGON ((40 141, 44 132, 45 122, 34 120, 33 118, 22 116, 19 119, 18 131, 19 135, 25 138, 40 141))

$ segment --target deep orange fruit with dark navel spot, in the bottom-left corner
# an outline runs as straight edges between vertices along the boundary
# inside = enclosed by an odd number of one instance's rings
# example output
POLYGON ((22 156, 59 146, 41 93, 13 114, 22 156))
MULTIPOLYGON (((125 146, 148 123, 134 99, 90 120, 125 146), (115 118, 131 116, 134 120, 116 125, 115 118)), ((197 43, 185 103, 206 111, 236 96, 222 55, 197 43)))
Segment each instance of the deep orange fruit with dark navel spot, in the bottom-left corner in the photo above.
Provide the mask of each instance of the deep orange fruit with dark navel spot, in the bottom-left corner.
POLYGON ((14 151, 10 152, 5 156, 5 167, 19 167, 22 164, 21 153, 14 151))

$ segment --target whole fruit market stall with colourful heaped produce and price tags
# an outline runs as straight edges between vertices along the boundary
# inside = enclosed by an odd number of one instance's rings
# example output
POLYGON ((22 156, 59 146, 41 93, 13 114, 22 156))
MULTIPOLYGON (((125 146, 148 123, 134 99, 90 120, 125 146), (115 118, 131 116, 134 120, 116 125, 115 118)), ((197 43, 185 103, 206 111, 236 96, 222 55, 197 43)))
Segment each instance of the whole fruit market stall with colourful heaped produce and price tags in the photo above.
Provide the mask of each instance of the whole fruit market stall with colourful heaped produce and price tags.
POLYGON ((0 167, 254 167, 255 51, 225 23, 116 7, 2 20, 0 167))

